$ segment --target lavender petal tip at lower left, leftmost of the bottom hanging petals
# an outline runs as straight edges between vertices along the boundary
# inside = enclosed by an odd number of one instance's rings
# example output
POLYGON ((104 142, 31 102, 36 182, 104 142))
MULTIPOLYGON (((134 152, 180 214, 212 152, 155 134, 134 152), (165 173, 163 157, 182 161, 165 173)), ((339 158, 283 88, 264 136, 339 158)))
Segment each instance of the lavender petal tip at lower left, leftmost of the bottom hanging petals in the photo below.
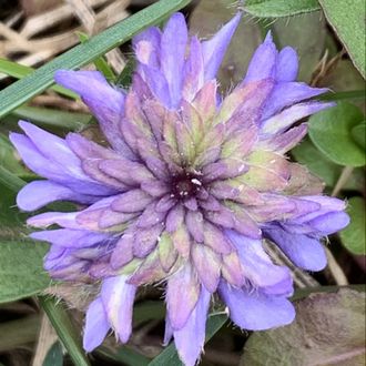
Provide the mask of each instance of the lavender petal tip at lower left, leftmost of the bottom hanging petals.
POLYGON ((98 297, 89 305, 87 311, 83 348, 87 352, 92 352, 100 346, 109 329, 110 325, 102 299, 98 297))

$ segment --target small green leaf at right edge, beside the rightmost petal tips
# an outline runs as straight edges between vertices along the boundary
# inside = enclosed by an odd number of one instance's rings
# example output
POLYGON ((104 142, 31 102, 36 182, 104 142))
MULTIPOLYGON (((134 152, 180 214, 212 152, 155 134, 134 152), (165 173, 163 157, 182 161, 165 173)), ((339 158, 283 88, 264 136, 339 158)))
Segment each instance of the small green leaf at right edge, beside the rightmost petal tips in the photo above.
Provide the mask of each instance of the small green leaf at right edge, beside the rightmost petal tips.
POLYGON ((342 244, 353 254, 366 254, 366 202, 362 197, 352 197, 348 201, 349 225, 340 233, 342 244))

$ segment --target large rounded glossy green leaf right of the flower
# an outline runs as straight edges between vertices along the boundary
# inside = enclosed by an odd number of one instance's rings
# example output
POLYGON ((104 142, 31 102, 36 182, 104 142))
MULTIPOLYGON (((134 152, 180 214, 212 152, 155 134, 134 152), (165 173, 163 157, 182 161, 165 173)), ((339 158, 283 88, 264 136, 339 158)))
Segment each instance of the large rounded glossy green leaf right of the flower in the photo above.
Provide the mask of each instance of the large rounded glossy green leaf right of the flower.
POLYGON ((365 152, 352 138, 352 129, 364 119, 360 110, 349 103, 316 113, 309 119, 309 136, 328 159, 340 165, 365 165, 365 152))

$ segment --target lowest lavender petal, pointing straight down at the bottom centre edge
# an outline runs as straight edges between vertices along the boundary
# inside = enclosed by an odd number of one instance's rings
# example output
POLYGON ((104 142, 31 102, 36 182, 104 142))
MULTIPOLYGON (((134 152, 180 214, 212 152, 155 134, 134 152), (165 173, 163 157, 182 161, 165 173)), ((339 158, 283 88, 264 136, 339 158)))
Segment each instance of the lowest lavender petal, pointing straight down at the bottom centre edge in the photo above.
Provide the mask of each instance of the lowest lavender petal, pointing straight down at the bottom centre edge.
POLYGON ((211 294, 202 287, 197 304, 186 324, 174 331, 175 347, 185 366, 194 366, 203 350, 210 297, 211 294))

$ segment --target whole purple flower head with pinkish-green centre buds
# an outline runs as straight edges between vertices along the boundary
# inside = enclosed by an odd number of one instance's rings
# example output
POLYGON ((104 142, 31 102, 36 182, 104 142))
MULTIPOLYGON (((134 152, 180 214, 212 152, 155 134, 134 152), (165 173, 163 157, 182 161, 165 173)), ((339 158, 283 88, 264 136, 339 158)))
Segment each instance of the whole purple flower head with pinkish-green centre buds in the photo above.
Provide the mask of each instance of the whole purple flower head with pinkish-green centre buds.
POLYGON ((24 163, 45 177, 20 191, 18 206, 83 207, 28 223, 60 227, 31 235, 51 243, 44 267, 54 278, 101 282, 87 312, 88 352, 110 328, 128 342, 145 284, 166 284, 165 343, 174 337, 185 365, 200 357, 216 291, 241 328, 288 324, 292 275, 272 262, 263 240, 298 267, 319 271, 322 237, 348 223, 344 202, 321 195, 285 155, 306 134, 306 123, 295 122, 333 105, 309 101, 326 89, 294 81, 293 49, 277 51, 268 34, 243 82, 217 94, 215 74, 238 21, 204 42, 189 38, 180 13, 164 31, 148 29, 133 41, 138 68, 128 91, 96 71, 58 71, 57 82, 98 118, 108 148, 27 122, 24 134, 11 134, 24 163))

